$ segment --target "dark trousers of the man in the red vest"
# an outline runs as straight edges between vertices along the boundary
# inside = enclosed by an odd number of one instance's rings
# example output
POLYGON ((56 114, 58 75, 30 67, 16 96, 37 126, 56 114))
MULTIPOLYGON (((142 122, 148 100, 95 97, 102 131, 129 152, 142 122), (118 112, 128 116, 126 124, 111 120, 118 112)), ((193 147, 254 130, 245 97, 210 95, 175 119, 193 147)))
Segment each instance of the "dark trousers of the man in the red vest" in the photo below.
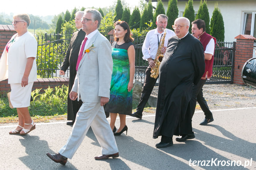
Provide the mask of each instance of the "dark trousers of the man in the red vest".
POLYGON ((203 97, 203 85, 206 82, 204 79, 200 79, 197 85, 193 85, 192 98, 190 100, 191 108, 191 119, 195 113, 196 101, 200 105, 202 111, 204 112, 205 119, 212 119, 212 112, 209 110, 209 107, 203 97))

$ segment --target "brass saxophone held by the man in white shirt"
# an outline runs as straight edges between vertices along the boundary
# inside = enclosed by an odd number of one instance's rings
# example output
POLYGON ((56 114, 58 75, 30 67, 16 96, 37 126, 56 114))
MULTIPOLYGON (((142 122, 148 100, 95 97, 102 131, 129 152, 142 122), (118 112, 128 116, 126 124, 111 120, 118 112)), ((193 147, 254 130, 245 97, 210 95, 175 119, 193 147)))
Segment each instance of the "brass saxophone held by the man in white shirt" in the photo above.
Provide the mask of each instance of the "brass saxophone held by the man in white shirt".
POLYGON ((155 55, 155 60, 154 60, 155 61, 155 67, 153 67, 152 70, 151 70, 150 77, 155 78, 155 79, 159 75, 159 66, 160 66, 160 63, 163 60, 163 53, 161 53, 161 49, 164 46, 165 35, 166 35, 166 30, 164 30, 163 37, 160 39, 160 43, 158 45, 157 53, 155 55))

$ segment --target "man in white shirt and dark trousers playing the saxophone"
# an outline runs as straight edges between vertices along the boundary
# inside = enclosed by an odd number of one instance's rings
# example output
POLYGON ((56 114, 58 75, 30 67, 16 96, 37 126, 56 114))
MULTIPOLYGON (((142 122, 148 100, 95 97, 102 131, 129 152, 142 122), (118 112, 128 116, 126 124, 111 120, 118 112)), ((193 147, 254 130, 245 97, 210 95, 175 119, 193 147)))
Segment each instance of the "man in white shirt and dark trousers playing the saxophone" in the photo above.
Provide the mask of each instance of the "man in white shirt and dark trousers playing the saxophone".
POLYGON ((144 86, 141 93, 139 104, 136 108, 136 112, 131 115, 133 117, 137 117, 138 119, 142 118, 142 112, 144 110, 144 107, 147 104, 150 94, 154 88, 155 82, 158 79, 158 78, 155 79, 150 77, 150 74, 151 74, 151 69, 155 66, 154 59, 158 50, 160 39, 163 37, 164 30, 166 30, 164 46, 161 49, 161 52, 165 53, 168 39, 175 35, 174 31, 166 29, 167 20, 168 20, 168 17, 165 14, 159 14, 156 18, 157 28, 154 30, 150 30, 147 33, 144 43, 142 45, 142 54, 143 54, 142 58, 148 61, 149 66, 147 67, 147 70, 146 70, 146 77, 144 80, 144 86))

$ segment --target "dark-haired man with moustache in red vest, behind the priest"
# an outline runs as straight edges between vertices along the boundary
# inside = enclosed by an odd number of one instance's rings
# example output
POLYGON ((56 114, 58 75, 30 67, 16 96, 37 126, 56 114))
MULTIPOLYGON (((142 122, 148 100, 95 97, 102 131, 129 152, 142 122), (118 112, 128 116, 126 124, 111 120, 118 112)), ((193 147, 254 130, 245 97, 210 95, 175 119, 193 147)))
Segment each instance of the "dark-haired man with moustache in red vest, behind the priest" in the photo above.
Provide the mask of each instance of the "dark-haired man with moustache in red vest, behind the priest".
POLYGON ((192 22, 192 34, 194 37, 198 38, 199 41, 203 44, 204 48, 204 61, 205 61, 205 72, 198 82, 197 85, 193 85, 193 93, 192 98, 190 100, 190 108, 191 108, 191 119, 195 112, 196 101, 200 105, 202 111, 204 112, 205 119, 200 125, 206 125, 212 122, 213 116, 212 112, 209 110, 209 107, 203 97, 203 85, 206 80, 212 77, 212 65, 213 65, 213 57, 214 50, 216 44, 216 38, 205 32, 205 22, 201 19, 195 20, 192 22))

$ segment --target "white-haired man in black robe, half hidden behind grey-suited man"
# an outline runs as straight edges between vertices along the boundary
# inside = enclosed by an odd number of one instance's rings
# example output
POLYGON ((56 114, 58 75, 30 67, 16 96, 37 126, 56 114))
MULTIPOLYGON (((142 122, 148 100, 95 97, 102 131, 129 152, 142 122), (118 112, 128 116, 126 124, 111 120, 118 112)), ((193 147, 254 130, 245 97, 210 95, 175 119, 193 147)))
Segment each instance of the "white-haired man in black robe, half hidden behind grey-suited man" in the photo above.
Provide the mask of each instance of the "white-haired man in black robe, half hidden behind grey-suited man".
MULTIPOLYGON (((85 38, 86 33, 82 30, 81 18, 83 17, 84 12, 78 11, 75 17, 76 28, 78 31, 74 32, 72 35, 71 41, 69 43, 69 48, 66 53, 65 59, 61 65, 60 75, 65 75, 66 70, 69 68, 69 93, 74 84, 74 80, 77 74, 76 64, 79 54, 79 49, 82 44, 82 41, 85 38)), ((67 125, 73 125, 76 119, 77 111, 82 106, 82 101, 75 100, 71 101, 68 96, 68 120, 72 122, 67 122, 67 125)))

